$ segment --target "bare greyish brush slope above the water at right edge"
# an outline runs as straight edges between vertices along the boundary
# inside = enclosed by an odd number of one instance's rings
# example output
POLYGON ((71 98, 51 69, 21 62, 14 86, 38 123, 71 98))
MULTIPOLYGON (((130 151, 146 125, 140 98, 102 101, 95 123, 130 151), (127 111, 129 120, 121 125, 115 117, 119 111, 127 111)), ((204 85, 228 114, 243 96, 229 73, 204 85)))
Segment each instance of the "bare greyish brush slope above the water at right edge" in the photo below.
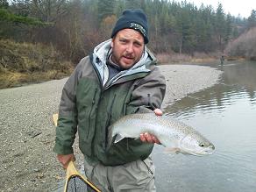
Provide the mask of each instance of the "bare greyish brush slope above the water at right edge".
POLYGON ((247 60, 256 60, 256 27, 242 33, 225 49, 229 57, 243 57, 247 60))

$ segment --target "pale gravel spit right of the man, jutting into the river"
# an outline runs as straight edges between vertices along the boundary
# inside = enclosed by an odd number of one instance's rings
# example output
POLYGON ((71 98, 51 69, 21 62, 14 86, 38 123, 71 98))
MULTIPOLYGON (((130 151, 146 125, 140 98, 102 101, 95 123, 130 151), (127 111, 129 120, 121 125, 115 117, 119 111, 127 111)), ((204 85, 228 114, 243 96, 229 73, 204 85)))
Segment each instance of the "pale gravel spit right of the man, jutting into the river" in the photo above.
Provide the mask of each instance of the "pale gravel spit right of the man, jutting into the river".
POLYGON ((167 91, 161 108, 202 89, 216 84, 222 72, 217 68, 199 65, 161 65, 160 71, 166 77, 167 91))

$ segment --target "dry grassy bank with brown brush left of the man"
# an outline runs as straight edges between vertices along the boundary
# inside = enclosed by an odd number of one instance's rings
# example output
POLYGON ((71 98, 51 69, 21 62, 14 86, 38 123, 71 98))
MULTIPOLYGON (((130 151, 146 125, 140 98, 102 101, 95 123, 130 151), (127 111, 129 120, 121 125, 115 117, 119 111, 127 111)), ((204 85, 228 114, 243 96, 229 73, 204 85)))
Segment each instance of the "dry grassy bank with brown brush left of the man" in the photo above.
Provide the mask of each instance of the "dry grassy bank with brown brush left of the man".
POLYGON ((0 89, 59 79, 74 68, 53 46, 0 39, 0 55, 0 89))

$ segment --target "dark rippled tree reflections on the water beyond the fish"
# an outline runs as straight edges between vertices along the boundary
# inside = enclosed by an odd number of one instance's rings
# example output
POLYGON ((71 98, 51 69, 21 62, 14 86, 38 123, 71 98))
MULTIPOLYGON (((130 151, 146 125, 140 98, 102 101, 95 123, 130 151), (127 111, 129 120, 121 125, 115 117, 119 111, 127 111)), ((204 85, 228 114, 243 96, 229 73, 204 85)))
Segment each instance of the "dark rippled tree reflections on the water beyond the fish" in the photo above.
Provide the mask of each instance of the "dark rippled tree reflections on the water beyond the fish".
POLYGON ((256 63, 231 63, 218 68, 224 71, 219 84, 206 91, 187 96, 181 102, 167 107, 166 110, 175 114, 177 112, 179 114, 179 111, 184 113, 187 110, 217 109, 221 112, 238 99, 248 99, 252 108, 255 109, 256 63))

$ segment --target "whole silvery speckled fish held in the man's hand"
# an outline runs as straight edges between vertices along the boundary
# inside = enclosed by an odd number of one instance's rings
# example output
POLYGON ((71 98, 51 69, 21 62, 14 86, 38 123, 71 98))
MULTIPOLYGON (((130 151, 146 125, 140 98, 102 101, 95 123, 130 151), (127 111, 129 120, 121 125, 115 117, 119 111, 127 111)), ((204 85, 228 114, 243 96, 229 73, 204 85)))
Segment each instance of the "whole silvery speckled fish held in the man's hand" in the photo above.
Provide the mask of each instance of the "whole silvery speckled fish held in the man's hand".
POLYGON ((192 126, 154 113, 135 113, 119 118, 109 127, 108 148, 124 138, 139 139, 148 132, 160 140, 160 145, 174 153, 203 156, 212 154, 215 146, 192 126))

